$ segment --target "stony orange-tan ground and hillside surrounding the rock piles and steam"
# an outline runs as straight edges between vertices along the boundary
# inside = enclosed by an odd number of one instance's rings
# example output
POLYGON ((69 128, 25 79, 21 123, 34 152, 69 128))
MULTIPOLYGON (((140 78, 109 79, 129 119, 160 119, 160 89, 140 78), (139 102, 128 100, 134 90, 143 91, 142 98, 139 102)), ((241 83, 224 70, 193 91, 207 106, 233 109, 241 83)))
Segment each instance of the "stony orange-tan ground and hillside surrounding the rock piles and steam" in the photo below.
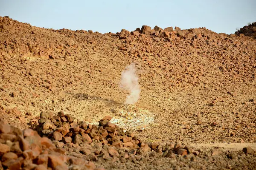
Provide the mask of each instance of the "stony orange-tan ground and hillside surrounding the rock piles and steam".
POLYGON ((255 153, 227 147, 256 149, 255 32, 253 23, 230 35, 157 26, 100 34, 0 17, 0 115, 22 129, 46 111, 94 125, 109 115, 149 144, 201 149, 191 158, 95 161, 105 169, 255 169, 255 153), (141 95, 124 105, 119 81, 131 62, 141 95), (212 155, 215 147, 221 151, 212 155))

